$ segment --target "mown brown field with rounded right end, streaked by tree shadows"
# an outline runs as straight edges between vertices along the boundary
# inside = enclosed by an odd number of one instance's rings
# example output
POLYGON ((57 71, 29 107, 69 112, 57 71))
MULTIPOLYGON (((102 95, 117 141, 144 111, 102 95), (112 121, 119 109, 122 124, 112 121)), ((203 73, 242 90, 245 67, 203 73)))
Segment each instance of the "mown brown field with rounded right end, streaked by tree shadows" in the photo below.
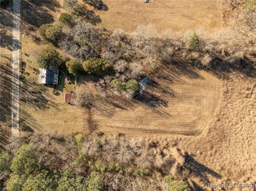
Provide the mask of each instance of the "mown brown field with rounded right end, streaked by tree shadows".
POLYGON ((162 73, 152 77, 154 83, 148 86, 145 98, 116 101, 119 108, 105 104, 104 112, 96 103, 93 118, 98 130, 129 135, 200 134, 218 104, 221 82, 203 71, 174 77, 171 70, 168 79, 162 73))

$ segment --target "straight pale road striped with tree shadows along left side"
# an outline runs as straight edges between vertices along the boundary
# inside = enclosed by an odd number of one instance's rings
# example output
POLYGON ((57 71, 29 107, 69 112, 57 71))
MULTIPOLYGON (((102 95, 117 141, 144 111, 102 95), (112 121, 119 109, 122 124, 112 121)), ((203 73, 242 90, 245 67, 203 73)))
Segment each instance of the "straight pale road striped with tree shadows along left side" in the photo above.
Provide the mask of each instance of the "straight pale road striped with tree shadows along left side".
POLYGON ((19 135, 20 0, 13 2, 12 135, 19 135))

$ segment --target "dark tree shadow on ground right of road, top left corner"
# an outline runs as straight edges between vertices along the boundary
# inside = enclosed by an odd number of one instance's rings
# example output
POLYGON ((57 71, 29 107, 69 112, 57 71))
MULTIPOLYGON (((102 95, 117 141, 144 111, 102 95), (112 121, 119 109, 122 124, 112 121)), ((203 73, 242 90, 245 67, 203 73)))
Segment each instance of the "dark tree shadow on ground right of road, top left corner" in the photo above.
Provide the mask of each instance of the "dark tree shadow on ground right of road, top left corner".
POLYGON ((56 11, 56 8, 61 7, 58 1, 26 0, 22 2, 23 22, 35 27, 40 27, 42 24, 54 22, 54 18, 48 12, 48 9, 51 11, 56 11))

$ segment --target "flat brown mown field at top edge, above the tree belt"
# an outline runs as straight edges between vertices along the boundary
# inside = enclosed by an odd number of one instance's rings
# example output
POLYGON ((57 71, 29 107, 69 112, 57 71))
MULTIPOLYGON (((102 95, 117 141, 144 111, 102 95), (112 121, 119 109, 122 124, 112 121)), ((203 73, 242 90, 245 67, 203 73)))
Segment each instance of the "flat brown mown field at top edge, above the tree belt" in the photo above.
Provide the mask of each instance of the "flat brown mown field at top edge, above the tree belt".
POLYGON ((96 11, 102 28, 122 28, 133 32, 139 25, 154 24, 158 31, 174 32, 204 27, 213 31, 222 27, 220 0, 103 0, 108 11, 96 11))

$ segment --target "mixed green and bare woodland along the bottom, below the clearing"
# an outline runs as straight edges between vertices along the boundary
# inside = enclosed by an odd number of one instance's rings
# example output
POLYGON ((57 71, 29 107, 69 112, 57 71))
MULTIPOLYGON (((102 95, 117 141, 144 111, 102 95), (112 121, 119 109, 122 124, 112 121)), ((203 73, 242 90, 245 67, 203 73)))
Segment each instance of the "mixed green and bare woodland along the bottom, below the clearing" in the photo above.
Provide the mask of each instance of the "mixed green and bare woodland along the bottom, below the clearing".
POLYGON ((85 137, 32 134, 11 140, 1 152, 1 189, 188 191, 178 176, 184 158, 172 146, 118 132, 85 137))

